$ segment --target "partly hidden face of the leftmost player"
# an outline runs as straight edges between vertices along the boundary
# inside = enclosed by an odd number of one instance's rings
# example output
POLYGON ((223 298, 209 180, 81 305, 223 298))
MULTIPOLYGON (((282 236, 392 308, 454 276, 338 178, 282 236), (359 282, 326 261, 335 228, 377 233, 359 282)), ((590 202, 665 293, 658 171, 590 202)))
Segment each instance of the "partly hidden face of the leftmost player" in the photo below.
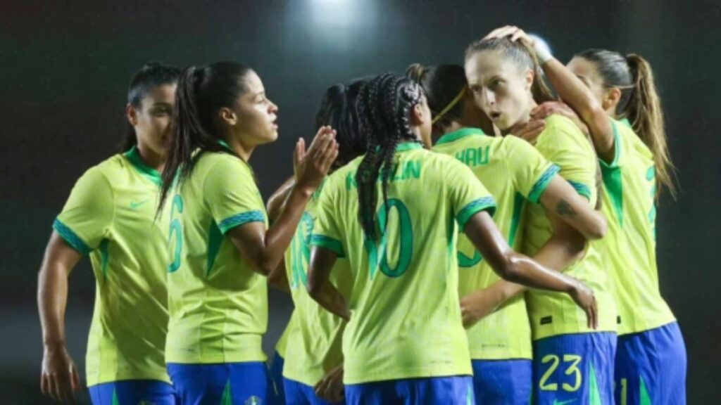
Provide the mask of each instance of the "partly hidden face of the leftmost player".
POLYGON ((166 153, 172 139, 170 122, 175 104, 175 84, 164 84, 150 89, 141 99, 140 108, 134 108, 138 143, 159 155, 166 153))

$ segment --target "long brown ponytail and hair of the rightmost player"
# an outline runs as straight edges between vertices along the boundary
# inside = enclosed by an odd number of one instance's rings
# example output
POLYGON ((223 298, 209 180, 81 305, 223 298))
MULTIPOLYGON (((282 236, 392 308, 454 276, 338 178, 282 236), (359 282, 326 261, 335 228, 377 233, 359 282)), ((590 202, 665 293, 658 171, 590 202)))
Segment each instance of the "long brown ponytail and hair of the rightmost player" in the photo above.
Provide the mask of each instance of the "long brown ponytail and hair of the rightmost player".
POLYGON ((604 49, 584 50, 575 57, 593 63, 604 88, 615 87, 621 91, 621 99, 616 104, 616 115, 629 120, 634 132, 653 153, 658 185, 656 197, 664 186, 675 197, 674 167, 668 151, 663 110, 651 65, 635 53, 624 56, 604 49))

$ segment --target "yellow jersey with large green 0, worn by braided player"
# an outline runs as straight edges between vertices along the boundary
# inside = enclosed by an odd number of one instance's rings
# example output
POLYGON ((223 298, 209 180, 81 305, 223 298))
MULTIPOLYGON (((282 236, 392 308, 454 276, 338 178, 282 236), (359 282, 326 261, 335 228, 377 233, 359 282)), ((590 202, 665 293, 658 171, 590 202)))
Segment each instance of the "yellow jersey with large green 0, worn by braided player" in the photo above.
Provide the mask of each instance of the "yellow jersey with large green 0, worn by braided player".
POLYGON ((311 239, 311 245, 350 263, 353 315, 343 334, 344 382, 470 375, 457 229, 479 211, 495 210, 495 201, 456 159, 402 143, 394 156, 387 217, 379 192, 382 237, 372 241, 358 221, 355 172, 361 160, 327 180, 311 239))

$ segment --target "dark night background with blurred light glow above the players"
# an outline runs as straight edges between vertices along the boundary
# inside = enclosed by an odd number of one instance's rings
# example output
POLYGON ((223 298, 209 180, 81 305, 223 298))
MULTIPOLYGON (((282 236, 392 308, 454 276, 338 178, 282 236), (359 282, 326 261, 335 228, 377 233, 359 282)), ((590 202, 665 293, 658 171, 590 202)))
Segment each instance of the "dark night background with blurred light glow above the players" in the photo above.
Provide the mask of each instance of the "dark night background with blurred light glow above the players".
MULTIPOLYGON (((35 290, 54 216, 76 179, 115 152, 128 80, 146 61, 253 66, 280 106, 280 138, 252 157, 265 197, 291 174, 324 89, 412 62, 461 62, 500 25, 547 38, 569 60, 590 47, 655 69, 681 194, 658 215, 663 295, 689 352, 689 404, 715 402, 721 363, 721 2, 719 1, 8 1, 0 2, 0 404, 42 404, 35 290)), ((71 276, 68 347, 81 368, 94 300, 71 276)), ((270 355, 291 308, 270 295, 270 355)), ((681 382, 669 382, 681 383, 681 382)), ((84 394, 87 401, 87 393, 84 394)))

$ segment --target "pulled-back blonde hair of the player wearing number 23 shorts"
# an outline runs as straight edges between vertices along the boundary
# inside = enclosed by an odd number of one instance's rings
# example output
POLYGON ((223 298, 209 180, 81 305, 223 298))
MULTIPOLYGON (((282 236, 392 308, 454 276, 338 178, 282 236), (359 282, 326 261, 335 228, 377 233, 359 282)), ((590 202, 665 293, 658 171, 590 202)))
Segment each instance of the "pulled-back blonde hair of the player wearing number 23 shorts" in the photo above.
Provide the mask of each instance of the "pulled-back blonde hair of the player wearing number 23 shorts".
POLYGON ((544 81, 543 70, 536 58, 536 53, 530 46, 523 41, 512 41, 508 37, 489 38, 485 40, 477 40, 466 48, 466 61, 473 55, 485 50, 495 51, 503 56, 504 60, 513 61, 513 63, 521 69, 534 71, 534 82, 531 84, 531 94, 534 96, 536 103, 552 101, 555 99, 551 89, 544 81))

